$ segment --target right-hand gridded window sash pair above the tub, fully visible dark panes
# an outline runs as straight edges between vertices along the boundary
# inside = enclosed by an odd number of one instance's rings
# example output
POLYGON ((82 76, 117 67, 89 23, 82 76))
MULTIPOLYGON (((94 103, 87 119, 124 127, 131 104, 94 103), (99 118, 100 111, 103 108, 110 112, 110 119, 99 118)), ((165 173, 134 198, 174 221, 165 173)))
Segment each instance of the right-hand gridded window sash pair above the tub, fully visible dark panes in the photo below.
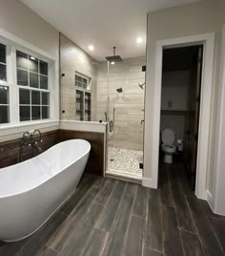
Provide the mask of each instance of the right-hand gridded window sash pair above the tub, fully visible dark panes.
POLYGON ((48 63, 16 51, 20 121, 50 117, 48 63))

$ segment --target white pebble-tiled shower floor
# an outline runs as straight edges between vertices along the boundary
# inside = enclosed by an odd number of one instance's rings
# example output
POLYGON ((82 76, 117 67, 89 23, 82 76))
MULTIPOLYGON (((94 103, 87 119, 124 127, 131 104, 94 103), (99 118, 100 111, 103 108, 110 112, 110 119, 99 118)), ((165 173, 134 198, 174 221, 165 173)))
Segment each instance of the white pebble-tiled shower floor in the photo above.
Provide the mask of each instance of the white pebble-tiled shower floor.
POLYGON ((143 163, 143 151, 108 147, 108 170, 141 178, 139 163, 143 163))

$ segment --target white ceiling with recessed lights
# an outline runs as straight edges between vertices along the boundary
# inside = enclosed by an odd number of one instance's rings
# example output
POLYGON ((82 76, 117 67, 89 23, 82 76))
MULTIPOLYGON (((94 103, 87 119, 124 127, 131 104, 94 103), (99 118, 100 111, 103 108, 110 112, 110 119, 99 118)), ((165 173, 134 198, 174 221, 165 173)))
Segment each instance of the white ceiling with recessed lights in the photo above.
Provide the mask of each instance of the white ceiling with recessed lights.
POLYGON ((147 13, 197 0, 21 0, 96 60, 144 56, 147 13), (144 42, 137 45, 135 39, 144 42), (94 51, 88 46, 92 44, 94 51))

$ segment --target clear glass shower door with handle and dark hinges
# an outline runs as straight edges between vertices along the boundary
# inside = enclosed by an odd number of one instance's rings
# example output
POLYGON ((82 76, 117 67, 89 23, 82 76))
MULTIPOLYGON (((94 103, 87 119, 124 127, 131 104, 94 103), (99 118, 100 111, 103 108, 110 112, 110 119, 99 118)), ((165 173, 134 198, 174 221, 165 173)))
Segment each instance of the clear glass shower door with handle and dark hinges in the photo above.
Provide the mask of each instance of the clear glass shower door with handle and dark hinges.
MULTIPOLYGON (((107 173, 141 178, 145 57, 108 62, 106 116, 108 125, 107 173)), ((106 67, 105 67, 106 68, 106 67)))

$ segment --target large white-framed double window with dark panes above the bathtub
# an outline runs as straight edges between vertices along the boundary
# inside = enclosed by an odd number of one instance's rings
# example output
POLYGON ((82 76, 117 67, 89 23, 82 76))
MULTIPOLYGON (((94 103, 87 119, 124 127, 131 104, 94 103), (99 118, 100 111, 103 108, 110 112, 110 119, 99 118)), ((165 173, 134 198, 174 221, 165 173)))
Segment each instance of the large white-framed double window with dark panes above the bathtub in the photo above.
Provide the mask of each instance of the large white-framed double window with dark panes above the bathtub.
POLYGON ((1 32, 0 130, 42 122, 48 127, 58 120, 56 62, 56 55, 1 32))

